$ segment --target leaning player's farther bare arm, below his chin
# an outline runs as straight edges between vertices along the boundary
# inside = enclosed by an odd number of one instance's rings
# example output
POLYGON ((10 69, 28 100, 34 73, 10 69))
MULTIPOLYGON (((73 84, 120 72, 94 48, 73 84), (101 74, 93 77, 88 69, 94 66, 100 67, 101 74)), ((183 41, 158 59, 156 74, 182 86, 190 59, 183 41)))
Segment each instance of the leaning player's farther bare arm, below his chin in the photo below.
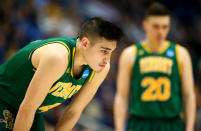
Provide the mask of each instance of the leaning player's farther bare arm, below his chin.
POLYGON ((56 131, 70 131, 74 127, 75 123, 80 118, 82 111, 94 97, 99 86, 107 76, 109 68, 110 65, 108 63, 101 72, 95 72, 93 79, 82 87, 69 107, 64 111, 64 114, 57 123, 56 131))

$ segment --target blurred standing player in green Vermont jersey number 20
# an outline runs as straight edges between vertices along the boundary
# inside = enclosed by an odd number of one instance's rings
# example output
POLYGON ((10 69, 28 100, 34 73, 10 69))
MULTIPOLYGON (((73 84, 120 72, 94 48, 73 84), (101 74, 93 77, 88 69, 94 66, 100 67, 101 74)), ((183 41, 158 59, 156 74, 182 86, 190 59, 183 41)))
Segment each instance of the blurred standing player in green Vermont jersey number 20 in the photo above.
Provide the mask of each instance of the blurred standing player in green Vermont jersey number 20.
POLYGON ((169 11, 162 4, 152 4, 142 25, 146 39, 124 49, 120 57, 115 129, 124 130, 128 111, 128 131, 193 131, 191 59, 187 49, 166 40, 169 11))

